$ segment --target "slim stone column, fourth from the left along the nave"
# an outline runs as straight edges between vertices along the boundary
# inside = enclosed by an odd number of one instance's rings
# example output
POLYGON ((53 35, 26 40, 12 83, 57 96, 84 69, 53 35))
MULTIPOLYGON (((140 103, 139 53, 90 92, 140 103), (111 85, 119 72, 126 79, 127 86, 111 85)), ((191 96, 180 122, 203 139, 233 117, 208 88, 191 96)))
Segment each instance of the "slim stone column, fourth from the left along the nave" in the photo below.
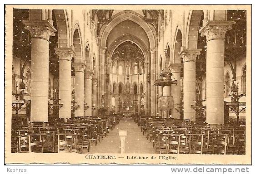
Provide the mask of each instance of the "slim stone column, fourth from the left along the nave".
POLYGON ((92 116, 92 75, 92 72, 85 71, 84 101, 87 103, 85 106, 89 106, 89 108, 84 111, 84 116, 92 116))

